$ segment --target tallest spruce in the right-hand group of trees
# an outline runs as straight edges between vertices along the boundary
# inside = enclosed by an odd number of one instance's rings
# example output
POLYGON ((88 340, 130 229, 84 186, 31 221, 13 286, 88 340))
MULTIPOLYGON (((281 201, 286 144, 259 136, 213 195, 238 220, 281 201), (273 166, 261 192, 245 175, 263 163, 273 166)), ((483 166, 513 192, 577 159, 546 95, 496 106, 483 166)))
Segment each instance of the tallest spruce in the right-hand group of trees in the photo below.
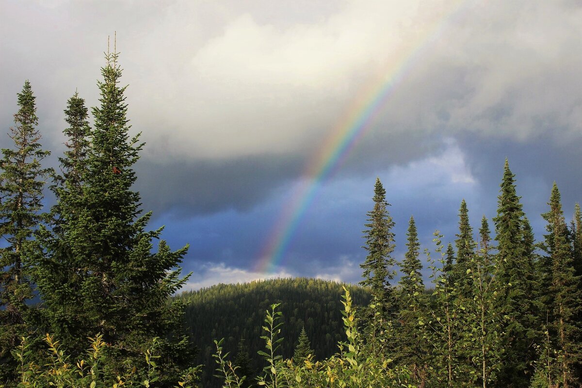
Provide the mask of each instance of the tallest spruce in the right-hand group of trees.
POLYGON ((540 330, 534 315, 533 257, 526 250, 531 245, 526 245, 524 240, 525 215, 507 159, 499 191, 497 216, 494 218, 495 240, 498 243, 496 262, 499 266, 498 280, 505 291, 498 308, 509 317, 503 329, 506 334, 505 348, 508 350, 507 362, 503 366, 499 386, 526 387, 532 372, 530 365, 535 359, 534 343, 540 339, 540 330))

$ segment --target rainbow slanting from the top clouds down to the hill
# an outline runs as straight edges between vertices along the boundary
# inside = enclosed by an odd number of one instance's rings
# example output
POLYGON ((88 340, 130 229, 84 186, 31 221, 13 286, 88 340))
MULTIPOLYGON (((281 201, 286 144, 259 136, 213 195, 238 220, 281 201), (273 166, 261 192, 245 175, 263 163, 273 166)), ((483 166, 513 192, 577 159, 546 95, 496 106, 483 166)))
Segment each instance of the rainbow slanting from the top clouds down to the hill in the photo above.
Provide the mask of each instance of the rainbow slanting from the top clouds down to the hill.
POLYGON ((469 1, 453 3, 446 12, 442 12, 442 15, 428 25, 424 33, 419 34, 416 41, 400 53, 398 60, 386 66, 383 72, 373 77, 372 81, 360 90, 357 98, 353 99, 350 109, 347 109, 345 115, 338 120, 331 130, 331 135, 307 163, 302 176, 313 178, 302 180, 295 188, 292 199, 279 215, 267 243, 258 255, 254 268, 256 272, 273 273, 281 265, 301 219, 324 181, 342 166, 352 149, 371 129, 382 107, 417 65, 423 52, 441 36, 452 20, 462 14, 462 10, 466 9, 469 3, 469 1))

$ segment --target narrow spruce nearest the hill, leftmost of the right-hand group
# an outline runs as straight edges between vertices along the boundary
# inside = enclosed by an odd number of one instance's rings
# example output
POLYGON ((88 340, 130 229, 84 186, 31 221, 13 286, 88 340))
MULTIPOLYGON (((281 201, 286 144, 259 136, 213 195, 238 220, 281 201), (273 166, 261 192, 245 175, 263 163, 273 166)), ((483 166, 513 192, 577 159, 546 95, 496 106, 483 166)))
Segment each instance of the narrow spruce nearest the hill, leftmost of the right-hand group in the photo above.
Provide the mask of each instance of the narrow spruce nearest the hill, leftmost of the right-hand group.
POLYGON ((372 351, 380 352, 386 350, 386 341, 379 338, 379 333, 385 332, 386 325, 391 325, 395 308, 390 281, 394 278, 392 268, 396 261, 391 256, 395 248, 392 232, 394 222, 386 209, 389 205, 386 202, 386 190, 379 178, 374 186, 373 200, 374 208, 367 213, 369 218, 365 224, 368 229, 364 231, 366 245, 363 248, 368 251, 368 255, 360 265, 364 269, 364 280, 360 284, 371 289, 372 301, 367 312, 370 333, 367 337, 372 351))

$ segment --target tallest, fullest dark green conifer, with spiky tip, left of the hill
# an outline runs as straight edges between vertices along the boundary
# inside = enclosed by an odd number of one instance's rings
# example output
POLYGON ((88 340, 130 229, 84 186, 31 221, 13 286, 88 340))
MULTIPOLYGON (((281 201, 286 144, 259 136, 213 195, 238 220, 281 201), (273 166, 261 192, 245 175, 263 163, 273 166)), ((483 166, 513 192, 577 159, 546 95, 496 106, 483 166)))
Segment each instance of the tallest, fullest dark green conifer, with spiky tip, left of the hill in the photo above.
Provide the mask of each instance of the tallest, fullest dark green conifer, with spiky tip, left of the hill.
MULTIPOLYGON (((180 279, 176 268, 188 247, 172 252, 161 240, 157 251, 151 252, 151 241, 159 238, 162 228, 145 230, 151 212, 140 216, 140 195, 132 191, 136 181, 133 165, 143 144, 140 134, 129 136, 118 53, 108 52, 106 59, 107 65, 101 69, 104 80, 98 82, 100 105, 93 108, 91 146, 80 165, 84 170, 80 192, 70 193, 74 200, 66 204, 61 198, 58 205, 61 217, 67 220, 59 236, 64 246, 48 254, 52 262, 70 261, 76 272, 78 294, 61 294, 63 310, 75 312, 75 333, 83 333, 83 337, 101 333, 112 344, 113 371, 122 368, 127 359, 143 362, 144 348, 159 337, 156 351, 161 358, 156 363, 161 374, 171 379, 193 362, 189 341, 182 334, 183 305, 168 303, 186 280, 180 279), (71 257, 63 258, 62 252, 71 257), (77 303, 79 307, 72 306, 77 303)), ((69 179, 74 181, 74 176, 69 174, 69 179)), ((58 300, 48 284, 39 286, 44 298, 58 300)), ((77 343, 83 346, 82 341, 77 343)))

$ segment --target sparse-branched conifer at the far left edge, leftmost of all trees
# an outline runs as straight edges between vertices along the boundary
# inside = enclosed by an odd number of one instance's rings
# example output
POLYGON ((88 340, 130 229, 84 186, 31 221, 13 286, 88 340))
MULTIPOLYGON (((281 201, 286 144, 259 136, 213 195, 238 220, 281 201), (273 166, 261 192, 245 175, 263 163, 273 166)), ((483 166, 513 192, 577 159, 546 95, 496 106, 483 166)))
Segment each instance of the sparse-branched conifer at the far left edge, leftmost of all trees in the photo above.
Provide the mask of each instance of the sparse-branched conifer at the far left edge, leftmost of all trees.
POLYGON ((18 94, 18 112, 10 138, 15 149, 2 149, 0 174, 0 232, 7 245, 0 248, 0 381, 9 379, 13 361, 10 350, 27 332, 31 312, 26 301, 33 297, 30 279, 31 238, 47 216, 42 209, 44 179, 50 173, 40 161, 50 154, 43 151, 36 115, 36 97, 30 82, 18 94))

